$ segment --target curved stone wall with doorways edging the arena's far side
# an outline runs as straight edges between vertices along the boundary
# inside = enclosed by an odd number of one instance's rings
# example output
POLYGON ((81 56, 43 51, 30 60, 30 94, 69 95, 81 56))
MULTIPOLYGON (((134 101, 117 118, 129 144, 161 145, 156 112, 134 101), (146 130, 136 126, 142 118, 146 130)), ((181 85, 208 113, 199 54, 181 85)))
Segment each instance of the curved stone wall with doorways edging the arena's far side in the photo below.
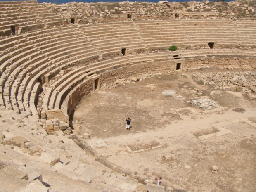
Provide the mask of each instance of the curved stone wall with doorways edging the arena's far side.
MULTIPOLYGON (((111 69, 106 71, 99 70, 97 71, 97 74, 99 75, 96 75, 96 78, 89 77, 89 79, 83 81, 81 84, 76 86, 69 93, 69 95, 67 95, 66 100, 64 101, 64 115, 66 116, 66 118, 69 118, 73 112, 73 109, 76 107, 81 98, 84 95, 87 95, 95 90, 95 79, 99 80, 99 84, 101 86, 104 83, 111 83, 116 81, 117 79, 133 77, 142 74, 174 73, 176 71, 177 63, 181 63, 180 69, 182 70, 206 67, 220 69, 253 69, 254 66, 256 66, 256 59, 254 57, 243 56, 219 56, 217 58, 214 56, 200 58, 188 57, 186 59, 161 62, 154 62, 154 60, 152 60, 148 61, 147 63, 130 63, 129 66, 119 66, 119 68, 117 69, 111 69)), ((69 121, 67 120, 65 122, 69 123, 69 121)))

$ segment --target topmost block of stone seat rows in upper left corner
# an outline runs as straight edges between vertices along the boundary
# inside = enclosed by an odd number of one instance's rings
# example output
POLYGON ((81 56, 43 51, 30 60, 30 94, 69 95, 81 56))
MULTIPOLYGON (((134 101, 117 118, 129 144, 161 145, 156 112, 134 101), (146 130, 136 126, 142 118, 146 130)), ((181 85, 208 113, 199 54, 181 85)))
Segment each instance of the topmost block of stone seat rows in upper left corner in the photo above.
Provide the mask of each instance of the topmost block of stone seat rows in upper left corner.
POLYGON ((0 15, 6 20, 0 21, 1 36, 9 36, 12 33, 15 35, 62 24, 61 17, 57 14, 54 15, 52 11, 37 2, 2 3, 0 4, 0 15), (42 14, 45 16, 42 17, 42 14))

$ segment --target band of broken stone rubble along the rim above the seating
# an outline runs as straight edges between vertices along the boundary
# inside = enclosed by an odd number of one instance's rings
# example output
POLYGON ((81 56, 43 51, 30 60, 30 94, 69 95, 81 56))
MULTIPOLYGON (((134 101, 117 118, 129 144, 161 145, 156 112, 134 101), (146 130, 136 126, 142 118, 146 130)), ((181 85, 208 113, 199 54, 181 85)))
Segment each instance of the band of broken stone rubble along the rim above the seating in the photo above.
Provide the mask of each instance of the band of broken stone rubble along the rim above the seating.
POLYGON ((249 0, 232 2, 71 2, 43 5, 57 12, 64 21, 79 23, 151 19, 256 19, 255 4, 249 0), (128 17, 129 15, 129 17, 128 17))

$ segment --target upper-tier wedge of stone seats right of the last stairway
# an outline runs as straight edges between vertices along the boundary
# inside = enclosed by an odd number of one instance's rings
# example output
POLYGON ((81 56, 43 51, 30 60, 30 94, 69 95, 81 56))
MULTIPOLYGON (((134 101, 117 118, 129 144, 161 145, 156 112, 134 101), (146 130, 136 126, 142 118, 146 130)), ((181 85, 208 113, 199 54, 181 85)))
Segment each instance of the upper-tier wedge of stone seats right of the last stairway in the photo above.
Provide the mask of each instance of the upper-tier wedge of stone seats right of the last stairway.
POLYGON ((249 20, 237 20, 237 32, 241 46, 256 47, 256 22, 249 20))

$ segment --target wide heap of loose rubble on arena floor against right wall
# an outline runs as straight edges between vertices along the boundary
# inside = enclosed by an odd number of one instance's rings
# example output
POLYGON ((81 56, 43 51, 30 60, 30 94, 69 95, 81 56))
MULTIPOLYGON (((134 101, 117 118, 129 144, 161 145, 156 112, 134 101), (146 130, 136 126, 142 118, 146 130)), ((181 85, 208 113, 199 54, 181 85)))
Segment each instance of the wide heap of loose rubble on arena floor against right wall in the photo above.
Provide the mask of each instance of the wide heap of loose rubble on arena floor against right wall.
POLYGON ((235 89, 243 92, 256 92, 256 73, 252 72, 218 72, 195 73, 194 79, 214 89, 235 89))

